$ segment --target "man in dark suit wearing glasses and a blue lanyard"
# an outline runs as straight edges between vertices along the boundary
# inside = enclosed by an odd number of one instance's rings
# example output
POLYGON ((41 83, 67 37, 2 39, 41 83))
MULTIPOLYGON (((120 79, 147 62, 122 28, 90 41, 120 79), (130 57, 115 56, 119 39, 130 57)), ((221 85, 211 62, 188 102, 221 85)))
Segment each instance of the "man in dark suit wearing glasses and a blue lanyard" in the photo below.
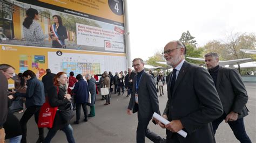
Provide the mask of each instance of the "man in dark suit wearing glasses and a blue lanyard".
POLYGON ((138 112, 136 140, 139 143, 143 143, 145 142, 145 137, 147 137, 153 142, 161 142, 164 139, 147 128, 153 113, 160 114, 156 84, 154 83, 153 76, 144 71, 144 62, 142 59, 136 58, 132 63, 137 75, 133 78, 134 82, 127 114, 131 115, 132 109, 133 113, 138 112))

